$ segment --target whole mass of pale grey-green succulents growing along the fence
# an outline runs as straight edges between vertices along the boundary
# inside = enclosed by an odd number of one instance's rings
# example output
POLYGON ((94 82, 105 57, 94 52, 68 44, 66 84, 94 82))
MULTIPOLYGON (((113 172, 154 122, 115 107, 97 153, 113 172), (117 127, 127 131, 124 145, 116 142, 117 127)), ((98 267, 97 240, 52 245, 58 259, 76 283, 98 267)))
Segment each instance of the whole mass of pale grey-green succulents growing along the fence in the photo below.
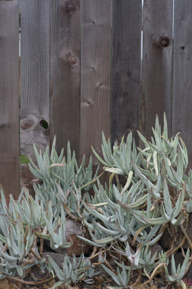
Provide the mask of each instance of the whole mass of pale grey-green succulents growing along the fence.
MULTIPOLYGON (((182 278, 190 267, 188 261, 192 251, 187 234, 192 212, 192 170, 188 176, 185 174, 187 150, 179 133, 174 139, 168 138, 165 114, 162 134, 158 117, 151 142, 140 132, 138 134, 144 149, 136 148, 131 132, 126 142, 123 137, 119 145, 115 142, 113 148, 110 140, 106 141, 102 134, 103 158, 93 148, 94 155, 104 166, 103 170, 110 173, 109 186, 105 188, 97 177, 98 170, 92 177, 92 159, 85 168, 84 156, 79 167, 75 152, 71 155, 69 143, 67 161, 63 150, 59 156, 55 151, 56 139, 50 156, 49 147, 42 154, 34 146, 38 165, 29 157, 29 168, 42 182, 34 185, 35 199, 24 187, 17 202, 10 196, 7 207, 1 188, 0 278, 25 278, 30 268, 36 265, 42 272, 47 270, 49 278, 59 278, 52 287, 55 288, 62 283, 67 286, 70 282, 82 280, 93 282, 92 278, 97 274, 94 267, 100 264, 117 285, 109 288, 129 288, 129 278, 134 270, 137 270, 138 277, 144 276, 144 284, 164 271, 168 282, 178 282, 186 288, 182 278), (124 186, 119 182, 119 175, 126 178, 124 186), (94 196, 89 195, 91 187, 94 196), (81 255, 78 262, 76 256, 72 261, 67 255, 63 256, 61 269, 51 256, 48 256, 49 262, 46 261, 42 250, 45 239, 53 250, 72 245, 72 240, 66 242, 65 238, 66 217, 77 220, 86 228, 89 239, 79 238, 92 245, 94 253, 86 259, 81 255), (159 242, 168 223, 180 226, 183 241, 180 245, 173 242, 167 252, 158 256, 157 252, 152 253, 151 246, 159 242), (59 228, 58 233, 56 228, 59 228), (173 253, 185 243, 185 239, 190 248, 183 264, 176 269, 173 253), (116 256, 117 271, 111 271, 107 256, 102 255, 106 252, 116 256), (98 263, 91 264, 93 255, 98 256, 98 263), (167 266, 171 255, 170 273, 167 266)), ((34 282, 38 284, 35 278, 34 282)))

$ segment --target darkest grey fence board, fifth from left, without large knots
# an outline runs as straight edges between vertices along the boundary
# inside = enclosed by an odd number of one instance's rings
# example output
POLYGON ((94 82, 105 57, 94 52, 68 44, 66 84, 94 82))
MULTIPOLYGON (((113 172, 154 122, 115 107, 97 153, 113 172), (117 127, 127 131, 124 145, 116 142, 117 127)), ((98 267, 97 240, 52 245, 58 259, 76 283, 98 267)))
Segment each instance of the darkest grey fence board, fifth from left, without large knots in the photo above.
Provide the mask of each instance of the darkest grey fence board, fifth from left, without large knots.
POLYGON ((141 94, 141 25, 140 0, 112 1, 111 43, 111 145, 140 129, 141 94))

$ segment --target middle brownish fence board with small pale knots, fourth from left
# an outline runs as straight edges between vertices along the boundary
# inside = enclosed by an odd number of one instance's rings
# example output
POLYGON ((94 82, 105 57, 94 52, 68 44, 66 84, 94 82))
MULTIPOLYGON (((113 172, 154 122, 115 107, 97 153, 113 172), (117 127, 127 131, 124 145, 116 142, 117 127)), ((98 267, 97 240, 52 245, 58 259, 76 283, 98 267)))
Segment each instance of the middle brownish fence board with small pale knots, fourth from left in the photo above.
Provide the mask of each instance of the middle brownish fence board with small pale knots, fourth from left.
MULTIPOLYGON (((81 0, 80 152, 102 155, 102 130, 110 137, 111 1, 81 0)), ((93 158, 94 171, 98 160, 93 158)))

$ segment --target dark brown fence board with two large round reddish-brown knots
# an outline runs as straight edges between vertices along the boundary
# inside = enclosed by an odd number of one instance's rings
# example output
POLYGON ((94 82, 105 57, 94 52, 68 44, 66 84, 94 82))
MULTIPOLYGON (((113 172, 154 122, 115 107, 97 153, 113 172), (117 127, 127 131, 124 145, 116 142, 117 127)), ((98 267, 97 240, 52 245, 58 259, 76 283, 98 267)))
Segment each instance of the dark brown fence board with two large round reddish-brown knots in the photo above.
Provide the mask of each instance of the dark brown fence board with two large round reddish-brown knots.
POLYGON ((50 142, 60 153, 80 151, 80 0, 52 0, 50 28, 50 142))

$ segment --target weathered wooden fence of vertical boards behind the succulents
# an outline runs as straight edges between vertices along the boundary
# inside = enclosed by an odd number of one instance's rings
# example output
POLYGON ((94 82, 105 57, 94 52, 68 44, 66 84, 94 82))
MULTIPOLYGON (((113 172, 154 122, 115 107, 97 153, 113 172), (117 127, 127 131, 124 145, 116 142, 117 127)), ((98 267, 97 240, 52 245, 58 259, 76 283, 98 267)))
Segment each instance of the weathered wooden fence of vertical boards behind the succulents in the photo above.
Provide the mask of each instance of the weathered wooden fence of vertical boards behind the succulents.
MULTIPOLYGON (((164 111, 169 136, 181 132, 192 164, 191 86, 190 0, 174 0, 174 7, 173 0, 144 0, 143 10, 142 0, 1 0, 6 195, 18 197, 20 154, 34 160, 33 142, 44 150, 56 134, 58 152, 70 140, 77 159, 88 160, 91 144, 101 153, 102 130, 113 143, 132 129, 139 145, 136 129, 150 138, 164 111)), ((29 178, 22 167, 21 179, 29 178)))

